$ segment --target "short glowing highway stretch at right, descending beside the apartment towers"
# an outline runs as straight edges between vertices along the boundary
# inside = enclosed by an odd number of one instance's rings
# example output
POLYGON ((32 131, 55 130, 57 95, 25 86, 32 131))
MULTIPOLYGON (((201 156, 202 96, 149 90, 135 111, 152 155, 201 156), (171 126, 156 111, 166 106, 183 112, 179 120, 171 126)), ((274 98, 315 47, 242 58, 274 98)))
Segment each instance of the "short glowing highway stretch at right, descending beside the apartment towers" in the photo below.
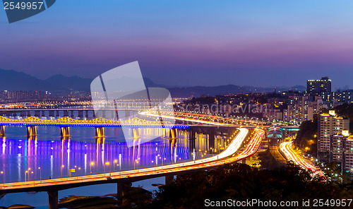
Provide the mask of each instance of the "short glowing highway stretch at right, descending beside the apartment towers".
POLYGON ((313 172, 314 175, 318 175, 319 177, 325 177, 325 174, 320 169, 318 169, 316 166, 312 165, 311 163, 307 162, 306 160, 301 159, 301 157, 294 152, 292 141, 281 143, 280 150, 285 155, 287 160, 294 162, 295 164, 299 165, 303 169, 313 172))

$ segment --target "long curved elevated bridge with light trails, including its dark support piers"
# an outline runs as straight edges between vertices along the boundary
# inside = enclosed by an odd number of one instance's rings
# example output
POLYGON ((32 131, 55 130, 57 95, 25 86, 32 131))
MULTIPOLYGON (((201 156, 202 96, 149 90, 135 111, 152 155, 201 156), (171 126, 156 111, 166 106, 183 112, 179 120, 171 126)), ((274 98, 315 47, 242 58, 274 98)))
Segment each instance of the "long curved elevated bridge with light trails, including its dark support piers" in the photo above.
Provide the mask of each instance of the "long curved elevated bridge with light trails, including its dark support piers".
POLYGON ((81 177, 6 183, 2 185, 1 192, 17 193, 28 191, 47 191, 50 209, 58 208, 58 191, 78 186, 117 183, 118 195, 124 195, 126 183, 163 176, 166 177, 166 181, 170 181, 173 179, 172 177, 177 174, 183 174, 185 172, 195 170, 210 169, 220 165, 225 165, 227 163, 243 160, 246 157, 256 153, 264 134, 265 131, 262 129, 254 129, 253 132, 249 134, 248 129, 241 128, 239 129, 237 135, 233 134, 231 136, 230 139, 232 139, 232 143, 230 143, 222 153, 201 160, 193 160, 189 162, 164 166, 162 165, 158 167, 148 167, 143 169, 133 169, 122 172, 92 174, 81 177), (241 153, 237 154, 247 136, 249 137, 249 141, 246 148, 241 151, 241 153))

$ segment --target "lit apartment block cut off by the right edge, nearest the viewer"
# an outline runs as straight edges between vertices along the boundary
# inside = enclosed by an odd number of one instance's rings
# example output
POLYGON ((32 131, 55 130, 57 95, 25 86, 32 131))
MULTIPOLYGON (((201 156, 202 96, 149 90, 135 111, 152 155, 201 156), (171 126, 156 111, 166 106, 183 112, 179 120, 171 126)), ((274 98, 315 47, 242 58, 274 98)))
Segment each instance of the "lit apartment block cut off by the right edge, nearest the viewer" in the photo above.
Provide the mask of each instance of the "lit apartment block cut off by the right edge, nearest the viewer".
POLYGON ((343 172, 353 172, 353 136, 347 130, 331 136, 330 162, 342 165, 343 172))

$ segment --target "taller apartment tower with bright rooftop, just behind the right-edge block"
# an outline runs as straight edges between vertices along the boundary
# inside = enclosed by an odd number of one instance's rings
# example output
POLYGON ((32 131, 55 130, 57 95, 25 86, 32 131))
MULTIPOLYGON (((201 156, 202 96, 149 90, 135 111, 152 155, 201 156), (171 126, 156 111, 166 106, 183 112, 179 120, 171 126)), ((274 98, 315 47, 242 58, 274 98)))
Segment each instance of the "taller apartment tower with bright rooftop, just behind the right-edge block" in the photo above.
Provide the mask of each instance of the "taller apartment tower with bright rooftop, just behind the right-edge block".
POLYGON ((349 119, 337 116, 335 110, 318 116, 318 158, 320 160, 329 157, 331 136, 342 133, 343 130, 349 130, 349 119))

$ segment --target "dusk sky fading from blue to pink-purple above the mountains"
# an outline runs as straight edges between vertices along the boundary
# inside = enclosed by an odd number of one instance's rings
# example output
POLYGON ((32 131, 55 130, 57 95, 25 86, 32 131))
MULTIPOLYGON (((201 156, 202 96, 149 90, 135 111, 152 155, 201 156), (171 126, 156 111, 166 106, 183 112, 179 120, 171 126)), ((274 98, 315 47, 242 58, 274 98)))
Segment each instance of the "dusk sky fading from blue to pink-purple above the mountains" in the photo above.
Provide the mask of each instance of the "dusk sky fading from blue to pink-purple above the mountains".
POLYGON ((139 61, 167 85, 353 88, 353 1, 57 0, 9 24, 0 10, 0 68, 38 78, 95 78, 139 61))

